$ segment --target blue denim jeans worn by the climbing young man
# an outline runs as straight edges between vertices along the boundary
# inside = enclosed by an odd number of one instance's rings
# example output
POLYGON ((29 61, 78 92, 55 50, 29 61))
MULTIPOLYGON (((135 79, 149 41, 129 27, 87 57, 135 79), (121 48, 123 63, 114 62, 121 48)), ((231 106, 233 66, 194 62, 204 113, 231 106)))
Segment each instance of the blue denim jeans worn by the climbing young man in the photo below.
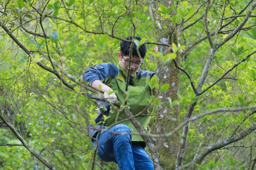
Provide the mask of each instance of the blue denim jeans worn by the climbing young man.
MULTIPOLYGON (((132 145, 131 130, 127 125, 118 124, 109 131, 113 133, 106 131, 100 135, 97 155, 101 160, 115 162, 120 170, 154 170, 153 162, 142 146, 132 145)), ((93 143, 96 146, 95 140, 93 143)))

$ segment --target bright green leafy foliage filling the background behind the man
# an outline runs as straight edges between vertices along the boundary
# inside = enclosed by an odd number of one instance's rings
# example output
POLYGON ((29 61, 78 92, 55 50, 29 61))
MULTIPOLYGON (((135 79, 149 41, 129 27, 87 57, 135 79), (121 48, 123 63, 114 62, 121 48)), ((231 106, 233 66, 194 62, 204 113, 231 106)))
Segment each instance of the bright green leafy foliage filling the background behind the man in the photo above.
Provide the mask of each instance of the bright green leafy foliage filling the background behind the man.
MULTIPOLYGON (((246 3, 246 0, 234 0, 229 4, 225 4, 224 1, 214 3, 207 18, 210 31, 215 31, 220 18, 232 16, 236 13, 235 11, 242 10, 246 3), (224 11, 225 5, 227 7, 224 11)), ((180 24, 182 28, 196 21, 204 13, 206 5, 202 4, 203 2, 195 0, 181 1, 178 5, 175 3, 168 6, 160 5, 159 9, 153 10, 160 13, 159 20, 170 20, 174 25, 180 24), (198 10, 190 20, 182 23, 198 8, 202 9, 198 10), (170 15, 172 12, 175 15, 170 15)), ((17 39, 32 53, 32 57, 28 57, 5 31, 0 29, 2 35, 0 37, 1 112, 19 130, 31 147, 38 150, 44 158, 59 169, 92 168, 94 150, 86 127, 96 116, 96 105, 93 100, 82 95, 84 89, 76 86, 74 91, 68 90, 54 74, 36 65, 40 62, 52 67, 50 61, 39 53, 39 49, 42 49, 46 55, 48 50, 50 57, 61 64, 61 70, 66 70, 81 80, 80 76, 89 66, 104 62, 118 63, 116 53, 119 50, 120 38, 132 35, 132 22, 137 23, 136 35, 144 38, 140 42, 135 42, 138 46, 154 41, 154 23, 150 18, 148 6, 144 2, 136 4, 136 2, 119 0, 95 2, 50 0, 49 3, 10 0, 1 1, 0 7, 1 22, 4 22, 12 30, 12 34, 16 35, 17 39), (42 27, 39 23, 40 18, 42 18, 42 27)), ((230 19, 223 20, 223 24, 228 21, 230 19)), ((217 36, 218 42, 227 37, 226 33, 235 29, 241 21, 242 17, 238 17, 230 23, 228 28, 224 28, 217 36)), ((216 51, 202 87, 203 90, 234 64, 256 50, 254 45, 256 29, 251 29, 255 21, 255 18, 250 18, 237 36, 216 51)), ((158 27, 167 29, 167 26, 160 25, 159 21, 156 23, 158 27)), ((182 49, 204 35, 202 20, 182 30, 180 44, 185 45, 182 49)), ((154 50, 155 45, 150 44, 147 47, 148 53, 142 69, 152 71, 156 70, 155 63, 158 58, 164 63, 172 62, 180 50, 176 45, 172 45, 174 53, 163 55, 158 50, 154 50)), ((209 53, 210 46, 206 39, 187 51, 183 58, 181 66, 189 72, 194 84, 199 82, 209 53)), ((66 77, 63 76, 63 78, 70 84, 76 85, 66 77)), ((193 111, 195 116, 222 107, 252 106, 255 105, 256 98, 255 81, 254 55, 239 64, 223 80, 201 96, 194 94, 190 80, 181 72, 180 100, 171 101, 169 98, 169 103, 172 107, 180 107, 181 121, 185 117, 188 106, 195 100, 198 100, 193 111)), ((172 88, 172 84, 159 84, 156 77, 148 83, 150 87, 160 92, 172 88)), ((159 104, 158 99, 154 100, 154 106, 159 104)), ((256 120, 254 114, 246 117, 251 112, 252 110, 220 112, 206 115, 190 123, 183 164, 193 160, 199 143, 202 143, 202 147, 199 148, 199 151, 202 151, 208 144, 222 141, 249 127, 256 120), (234 132, 235 129, 236 132, 234 132)), ((20 144, 20 141, 1 121, 0 127, 0 145, 20 144)), ((154 133, 154 127, 152 129, 149 127, 149 130, 154 133)), ((210 153, 201 164, 197 164, 197 167, 201 170, 248 169, 252 163, 251 160, 256 156, 255 153, 251 154, 255 150, 254 141, 255 133, 251 133, 246 138, 228 145, 230 147, 228 149, 210 153)), ((116 164, 103 162, 97 158, 95 164, 95 169, 118 169, 116 164)), ((0 167, 36 169, 36 163, 24 147, 0 146, 0 167)))

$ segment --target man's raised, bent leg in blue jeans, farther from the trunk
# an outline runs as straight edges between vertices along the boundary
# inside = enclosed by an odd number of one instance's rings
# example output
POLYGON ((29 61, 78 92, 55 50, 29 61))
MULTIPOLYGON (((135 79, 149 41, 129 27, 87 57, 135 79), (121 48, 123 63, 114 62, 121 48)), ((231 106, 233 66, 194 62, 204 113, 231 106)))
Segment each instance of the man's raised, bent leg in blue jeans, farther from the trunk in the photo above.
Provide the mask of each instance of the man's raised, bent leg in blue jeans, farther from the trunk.
POLYGON ((135 170, 129 127, 119 124, 109 131, 113 133, 105 132, 100 135, 98 157, 106 162, 116 162, 120 170, 135 170))

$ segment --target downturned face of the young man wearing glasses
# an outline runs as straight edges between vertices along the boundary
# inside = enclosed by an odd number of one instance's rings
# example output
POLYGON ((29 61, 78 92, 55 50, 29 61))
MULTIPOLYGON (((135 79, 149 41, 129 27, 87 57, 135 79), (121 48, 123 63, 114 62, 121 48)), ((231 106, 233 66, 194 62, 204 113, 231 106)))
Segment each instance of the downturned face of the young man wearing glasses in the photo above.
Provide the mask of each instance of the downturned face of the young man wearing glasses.
MULTIPOLYGON (((129 60, 129 56, 128 55, 124 55, 122 56, 120 52, 118 52, 118 60, 121 61, 121 65, 122 68, 124 69, 124 71, 127 72, 128 70, 128 60, 129 60), (127 61, 127 62, 126 62, 127 61), (127 64, 127 65, 126 65, 127 64)), ((132 57, 132 61, 134 63, 142 63, 143 59, 141 59, 138 56, 133 56, 132 57)), ((134 63, 131 63, 131 70, 130 70, 130 75, 133 75, 140 67, 136 67, 134 63)))

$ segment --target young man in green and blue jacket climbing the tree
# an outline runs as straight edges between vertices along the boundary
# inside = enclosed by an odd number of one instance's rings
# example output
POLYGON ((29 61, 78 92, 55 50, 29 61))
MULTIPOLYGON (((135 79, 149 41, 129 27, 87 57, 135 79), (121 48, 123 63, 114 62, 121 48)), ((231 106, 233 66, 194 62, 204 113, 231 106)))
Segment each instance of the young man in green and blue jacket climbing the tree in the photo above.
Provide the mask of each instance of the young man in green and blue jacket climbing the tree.
MULTIPOLYGON (((132 37, 126 37, 126 39, 132 40, 132 37)), ((140 41, 140 37, 135 37, 135 39, 140 41)), ((103 92, 105 98, 118 100, 121 103, 125 102, 130 45, 131 43, 127 41, 120 42, 118 66, 113 63, 98 64, 96 67, 88 68, 82 75, 82 78, 92 88, 103 92)), ((143 64, 146 51, 146 45, 141 45, 138 51, 136 45, 134 44, 133 46, 128 85, 130 94, 128 94, 126 100, 131 113, 133 115, 139 113, 136 115, 136 119, 144 128, 150 121, 150 114, 148 109, 145 108, 150 105, 150 96, 152 95, 152 90, 146 81, 149 81, 155 74, 150 71, 138 71, 143 64)), ((99 106, 103 104, 107 108, 104 111, 104 115, 109 116, 109 118, 105 121, 104 128, 126 118, 124 113, 118 111, 118 109, 111 109, 110 111, 109 104, 100 101, 97 101, 97 103, 99 106)), ((98 117, 94 121, 98 123, 101 120, 102 114, 98 111, 98 117)), ((97 126, 100 127, 100 125, 97 126)), ((153 162, 144 150, 146 144, 143 139, 140 135, 132 135, 131 133, 138 133, 138 131, 129 120, 116 124, 109 131, 103 131, 101 134, 98 131, 89 129, 89 135, 92 137, 94 145, 96 145, 94 139, 98 139, 100 134, 97 150, 97 155, 100 159, 106 162, 116 162, 120 170, 154 170, 153 162)))

